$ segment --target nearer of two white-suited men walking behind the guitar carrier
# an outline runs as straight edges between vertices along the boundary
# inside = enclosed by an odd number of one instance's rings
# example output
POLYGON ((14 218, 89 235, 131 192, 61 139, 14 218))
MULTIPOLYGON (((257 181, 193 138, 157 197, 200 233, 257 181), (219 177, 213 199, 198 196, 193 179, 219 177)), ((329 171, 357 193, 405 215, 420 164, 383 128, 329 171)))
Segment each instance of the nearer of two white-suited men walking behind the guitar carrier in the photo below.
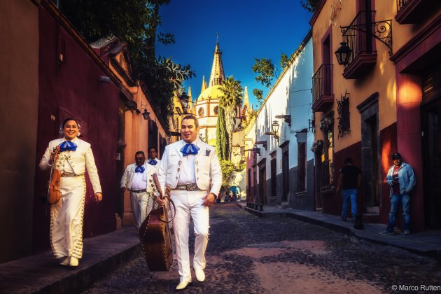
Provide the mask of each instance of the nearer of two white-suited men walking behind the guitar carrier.
POLYGON ((126 188, 130 190, 133 218, 138 230, 153 208, 153 190, 151 185, 148 185, 148 181, 155 172, 156 169, 153 165, 146 164, 144 152, 137 151, 135 153, 135 163, 127 165, 121 179, 121 192, 125 192, 126 188))

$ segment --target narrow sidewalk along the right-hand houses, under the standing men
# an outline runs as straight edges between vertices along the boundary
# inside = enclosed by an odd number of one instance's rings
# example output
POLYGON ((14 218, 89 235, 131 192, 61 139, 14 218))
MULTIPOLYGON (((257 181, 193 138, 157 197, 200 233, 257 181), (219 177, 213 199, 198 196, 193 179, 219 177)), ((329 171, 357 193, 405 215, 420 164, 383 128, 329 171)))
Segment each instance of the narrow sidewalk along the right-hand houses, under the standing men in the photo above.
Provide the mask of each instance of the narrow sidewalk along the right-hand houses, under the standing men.
POLYGON ((441 231, 439 230, 426 230, 424 232, 411 233, 410 235, 396 234, 393 236, 383 236, 379 235, 379 232, 386 230, 386 225, 384 224, 363 223, 363 230, 354 230, 351 220, 344 222, 339 216, 323 214, 321 212, 299 209, 279 209, 277 207, 267 206, 263 207, 263 211, 258 211, 246 207, 245 202, 237 202, 237 205, 241 207, 241 209, 259 217, 295 218, 307 223, 321 225, 330 230, 353 235, 360 239, 395 246, 413 253, 426 255, 441 262, 441 231))

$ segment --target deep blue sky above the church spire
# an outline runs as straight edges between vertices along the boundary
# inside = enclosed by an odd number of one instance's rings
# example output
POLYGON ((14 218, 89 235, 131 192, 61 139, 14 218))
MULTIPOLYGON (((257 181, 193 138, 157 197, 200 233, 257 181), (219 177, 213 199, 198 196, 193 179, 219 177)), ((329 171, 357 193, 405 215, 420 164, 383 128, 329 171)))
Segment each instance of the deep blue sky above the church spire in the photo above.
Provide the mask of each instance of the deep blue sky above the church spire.
POLYGON ((156 54, 173 57, 180 64, 190 64, 196 77, 191 86, 193 100, 202 86, 202 76, 209 80, 218 34, 225 76, 234 76, 248 86, 250 102, 255 105, 256 83, 251 71, 254 58, 269 58, 279 66, 280 55, 291 55, 309 31, 311 13, 300 0, 172 0, 160 10, 162 26, 158 31, 175 36, 175 44, 158 45, 156 54))

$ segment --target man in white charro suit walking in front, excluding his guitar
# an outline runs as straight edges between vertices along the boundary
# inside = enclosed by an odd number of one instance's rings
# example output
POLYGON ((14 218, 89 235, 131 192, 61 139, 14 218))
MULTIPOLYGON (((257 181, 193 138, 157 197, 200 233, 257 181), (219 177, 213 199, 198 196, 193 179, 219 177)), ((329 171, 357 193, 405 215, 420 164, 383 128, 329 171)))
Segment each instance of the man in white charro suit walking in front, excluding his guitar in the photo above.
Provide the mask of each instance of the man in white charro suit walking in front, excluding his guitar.
POLYGON ((195 257, 193 269, 197 281, 205 281, 205 250, 209 237, 209 207, 216 200, 222 185, 221 165, 215 148, 198 138, 199 123, 193 115, 183 118, 181 141, 165 147, 158 169, 162 190, 171 189, 176 207, 173 219, 176 255, 179 265, 179 284, 183 290, 191 283, 188 224, 190 216, 195 228, 195 257))

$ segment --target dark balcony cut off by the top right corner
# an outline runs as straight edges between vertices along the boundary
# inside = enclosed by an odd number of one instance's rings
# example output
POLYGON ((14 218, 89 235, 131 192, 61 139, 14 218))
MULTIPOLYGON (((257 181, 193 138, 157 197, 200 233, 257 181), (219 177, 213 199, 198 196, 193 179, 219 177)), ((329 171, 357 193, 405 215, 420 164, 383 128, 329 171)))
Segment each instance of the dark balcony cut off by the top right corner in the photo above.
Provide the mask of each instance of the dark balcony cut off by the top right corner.
POLYGON ((396 0, 397 15, 395 20, 400 24, 416 24, 428 18, 430 12, 440 10, 439 0, 396 0))

